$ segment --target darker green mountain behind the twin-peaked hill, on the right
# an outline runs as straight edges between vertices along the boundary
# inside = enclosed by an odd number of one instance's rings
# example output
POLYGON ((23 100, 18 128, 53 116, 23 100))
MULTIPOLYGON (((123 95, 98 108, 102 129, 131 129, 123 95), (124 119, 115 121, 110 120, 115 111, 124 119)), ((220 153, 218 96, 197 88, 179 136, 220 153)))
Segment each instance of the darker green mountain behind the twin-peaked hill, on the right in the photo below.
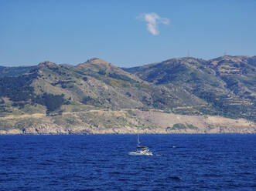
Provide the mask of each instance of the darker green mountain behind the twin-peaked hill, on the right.
MULTIPOLYGON (((125 71, 155 85, 186 89, 206 103, 193 108, 204 114, 255 120, 255 63, 254 57, 248 56, 222 56, 208 61, 186 57, 125 71)), ((183 114, 186 112, 188 109, 183 114)))

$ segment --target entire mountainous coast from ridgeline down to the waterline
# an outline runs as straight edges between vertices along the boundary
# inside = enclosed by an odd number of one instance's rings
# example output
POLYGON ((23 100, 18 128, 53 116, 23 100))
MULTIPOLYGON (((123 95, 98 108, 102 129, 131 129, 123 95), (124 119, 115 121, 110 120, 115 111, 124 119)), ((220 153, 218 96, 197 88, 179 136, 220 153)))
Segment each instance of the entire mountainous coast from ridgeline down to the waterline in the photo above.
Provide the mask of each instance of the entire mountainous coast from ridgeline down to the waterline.
POLYGON ((255 56, 2 67, 0 133, 255 132, 255 76, 255 56))

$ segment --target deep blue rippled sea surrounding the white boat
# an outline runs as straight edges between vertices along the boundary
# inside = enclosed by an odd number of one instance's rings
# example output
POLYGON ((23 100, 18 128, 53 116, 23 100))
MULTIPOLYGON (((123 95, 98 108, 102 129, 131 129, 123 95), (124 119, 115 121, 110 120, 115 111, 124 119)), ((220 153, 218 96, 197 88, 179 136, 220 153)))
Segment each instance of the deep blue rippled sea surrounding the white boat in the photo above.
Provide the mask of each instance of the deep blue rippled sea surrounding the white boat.
POLYGON ((0 136, 0 190, 256 190, 256 135, 0 136))

